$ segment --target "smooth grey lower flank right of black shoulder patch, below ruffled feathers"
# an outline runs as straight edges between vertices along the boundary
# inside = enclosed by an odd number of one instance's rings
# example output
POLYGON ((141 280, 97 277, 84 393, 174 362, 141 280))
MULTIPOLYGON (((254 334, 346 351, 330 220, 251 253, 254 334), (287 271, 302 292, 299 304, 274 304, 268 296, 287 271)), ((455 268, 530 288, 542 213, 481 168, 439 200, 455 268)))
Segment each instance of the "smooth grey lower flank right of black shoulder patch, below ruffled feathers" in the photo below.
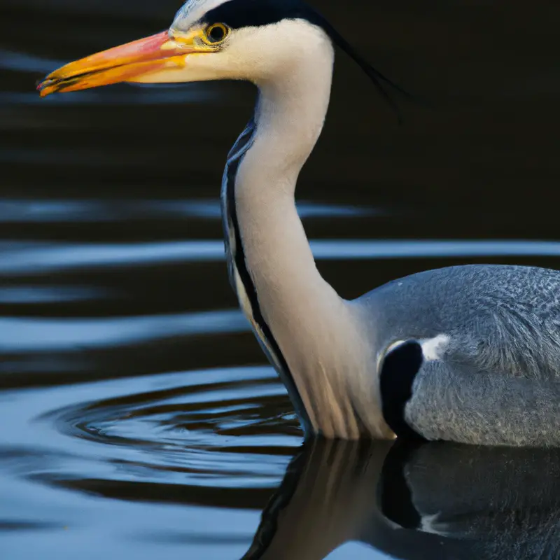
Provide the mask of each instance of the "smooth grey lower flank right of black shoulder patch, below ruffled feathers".
POLYGON ((560 383, 428 362, 414 381, 407 423, 429 440, 560 445, 560 383))

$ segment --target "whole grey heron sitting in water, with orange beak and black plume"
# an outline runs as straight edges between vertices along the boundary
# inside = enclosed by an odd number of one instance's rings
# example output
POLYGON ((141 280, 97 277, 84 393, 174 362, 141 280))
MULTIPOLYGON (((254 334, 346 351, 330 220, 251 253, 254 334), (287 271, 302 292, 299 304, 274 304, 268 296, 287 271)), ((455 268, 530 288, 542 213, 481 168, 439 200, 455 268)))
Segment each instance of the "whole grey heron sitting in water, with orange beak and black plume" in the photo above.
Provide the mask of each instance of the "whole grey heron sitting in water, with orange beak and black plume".
POLYGON ((447 267, 356 300, 318 272, 295 186, 321 134, 336 45, 386 93, 391 82, 300 0, 188 0, 167 31, 66 64, 38 90, 258 87, 223 174, 228 269, 306 436, 560 444, 559 272, 447 267))

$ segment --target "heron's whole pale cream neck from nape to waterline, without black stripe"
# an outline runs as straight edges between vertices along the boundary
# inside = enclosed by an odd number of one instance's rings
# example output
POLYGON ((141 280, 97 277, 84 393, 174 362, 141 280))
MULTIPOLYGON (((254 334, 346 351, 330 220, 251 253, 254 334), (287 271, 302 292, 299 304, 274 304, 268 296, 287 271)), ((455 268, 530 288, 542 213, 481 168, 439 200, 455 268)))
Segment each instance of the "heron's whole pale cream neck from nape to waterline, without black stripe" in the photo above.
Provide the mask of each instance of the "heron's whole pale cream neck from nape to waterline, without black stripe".
POLYGON ((368 373, 363 340, 351 306, 316 268, 294 200, 297 176, 321 134, 334 62, 328 36, 308 27, 312 36, 302 41, 301 55, 257 83, 256 131, 237 169, 235 209, 260 313, 311 429, 358 437, 363 421, 353 395, 368 373))

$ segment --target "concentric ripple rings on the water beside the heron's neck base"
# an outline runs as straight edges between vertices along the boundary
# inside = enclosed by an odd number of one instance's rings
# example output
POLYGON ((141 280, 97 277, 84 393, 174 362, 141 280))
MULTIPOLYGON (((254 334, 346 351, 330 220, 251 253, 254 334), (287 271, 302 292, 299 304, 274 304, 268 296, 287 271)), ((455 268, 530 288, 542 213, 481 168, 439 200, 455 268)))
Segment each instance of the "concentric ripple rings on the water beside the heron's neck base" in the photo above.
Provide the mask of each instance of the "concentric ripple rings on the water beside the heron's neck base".
MULTIPOLYGON (((93 385, 93 384, 92 384, 93 385)), ((94 384, 98 398, 57 407, 38 420, 54 425, 105 465, 105 482, 222 489, 276 486, 300 443, 286 391, 267 367, 179 372, 94 384), (271 414, 272 412, 272 414, 271 414)), ((84 389, 86 389, 84 387, 84 389)), ((87 389, 86 389, 87 390, 87 389)), ((76 395, 76 388, 73 388, 76 395)), ((69 442, 66 442, 66 450, 69 442)), ((95 491, 77 472, 50 482, 95 491), (81 479, 80 479, 81 478, 81 479), (85 488, 84 488, 85 489, 85 488)), ((48 475, 42 477, 48 482, 48 475)), ((99 488, 104 486, 97 480, 99 488)), ((101 490, 99 490, 102 492, 101 490)), ((154 489, 146 491, 153 499, 154 489)), ((212 496, 216 504, 220 493, 212 496)), ((224 496, 230 502, 231 496, 224 496)), ((136 496, 142 499, 141 494, 136 496)), ((197 499, 200 502, 200 498, 197 499)), ((225 504, 224 504, 225 505, 225 504)))

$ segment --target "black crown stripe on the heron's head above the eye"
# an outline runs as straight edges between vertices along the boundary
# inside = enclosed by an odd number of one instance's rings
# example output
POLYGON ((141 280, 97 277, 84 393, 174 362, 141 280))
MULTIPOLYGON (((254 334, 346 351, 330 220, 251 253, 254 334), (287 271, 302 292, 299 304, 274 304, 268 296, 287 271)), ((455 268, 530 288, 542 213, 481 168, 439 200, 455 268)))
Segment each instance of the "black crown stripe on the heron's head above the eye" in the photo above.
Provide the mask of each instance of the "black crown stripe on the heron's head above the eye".
POLYGON ((323 21, 301 0, 228 0, 204 14, 207 24, 224 23, 232 29, 258 27, 281 20, 302 19, 321 26, 323 21))

